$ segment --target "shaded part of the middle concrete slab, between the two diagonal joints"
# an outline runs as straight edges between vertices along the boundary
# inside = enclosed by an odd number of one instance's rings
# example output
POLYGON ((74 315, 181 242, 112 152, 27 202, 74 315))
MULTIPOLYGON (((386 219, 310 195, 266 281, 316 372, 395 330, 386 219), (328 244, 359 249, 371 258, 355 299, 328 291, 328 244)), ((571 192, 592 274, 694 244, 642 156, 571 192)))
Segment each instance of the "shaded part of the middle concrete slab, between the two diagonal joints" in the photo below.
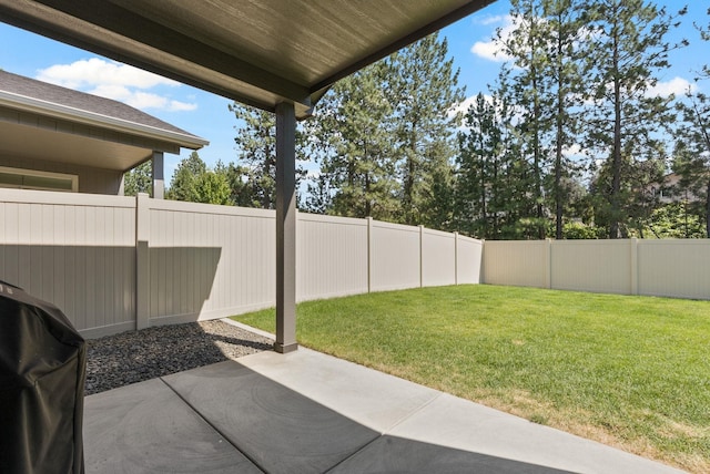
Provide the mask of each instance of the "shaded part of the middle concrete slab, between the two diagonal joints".
POLYGON ((268 473, 326 472, 379 436, 232 361, 163 380, 268 473))

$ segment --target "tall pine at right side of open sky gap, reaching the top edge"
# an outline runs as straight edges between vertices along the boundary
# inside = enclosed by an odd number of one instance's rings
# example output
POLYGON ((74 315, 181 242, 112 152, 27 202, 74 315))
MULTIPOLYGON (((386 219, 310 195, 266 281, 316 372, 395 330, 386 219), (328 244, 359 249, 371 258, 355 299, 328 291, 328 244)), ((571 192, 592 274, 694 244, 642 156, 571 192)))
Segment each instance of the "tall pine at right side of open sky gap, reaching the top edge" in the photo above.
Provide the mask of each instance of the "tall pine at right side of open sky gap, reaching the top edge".
POLYGON ((544 238, 549 203, 555 209, 555 235, 561 238, 564 209, 569 208, 564 183, 574 175, 565 150, 575 143, 581 89, 578 44, 585 29, 579 1, 513 0, 510 14, 516 28, 505 35, 498 31, 497 40, 510 58, 500 74, 509 82, 507 100, 519 111, 519 145, 529 161, 534 213, 521 218, 536 238, 544 238))

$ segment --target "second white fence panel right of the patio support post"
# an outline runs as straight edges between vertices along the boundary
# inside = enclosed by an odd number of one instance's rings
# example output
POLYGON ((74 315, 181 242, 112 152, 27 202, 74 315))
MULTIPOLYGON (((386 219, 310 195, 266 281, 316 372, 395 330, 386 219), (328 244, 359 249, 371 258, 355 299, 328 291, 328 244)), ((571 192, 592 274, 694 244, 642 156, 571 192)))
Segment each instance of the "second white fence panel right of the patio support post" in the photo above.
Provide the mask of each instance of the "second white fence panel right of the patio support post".
POLYGON ((419 227, 373 220, 369 231, 371 291, 419 287, 419 227))

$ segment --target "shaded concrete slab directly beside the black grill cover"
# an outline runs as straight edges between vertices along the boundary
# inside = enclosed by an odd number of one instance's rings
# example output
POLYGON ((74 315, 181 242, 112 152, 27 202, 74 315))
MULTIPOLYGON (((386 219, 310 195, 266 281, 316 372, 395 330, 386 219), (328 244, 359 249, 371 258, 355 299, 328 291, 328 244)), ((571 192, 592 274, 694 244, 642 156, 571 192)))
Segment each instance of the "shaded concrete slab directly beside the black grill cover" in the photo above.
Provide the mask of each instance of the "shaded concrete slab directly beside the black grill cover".
POLYGON ((84 400, 87 473, 260 473, 162 380, 84 400))

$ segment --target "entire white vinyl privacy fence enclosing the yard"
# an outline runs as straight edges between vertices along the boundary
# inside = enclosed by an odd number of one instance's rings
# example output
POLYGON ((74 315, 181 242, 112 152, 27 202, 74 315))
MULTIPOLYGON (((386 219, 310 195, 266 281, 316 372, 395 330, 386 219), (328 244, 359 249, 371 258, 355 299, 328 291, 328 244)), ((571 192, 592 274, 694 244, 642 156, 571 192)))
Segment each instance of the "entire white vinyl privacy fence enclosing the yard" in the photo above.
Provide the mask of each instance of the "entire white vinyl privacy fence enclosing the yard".
MULTIPOLYGON (((57 305, 85 337, 275 303, 272 210, 0 189, 0 280, 57 305)), ((298 301, 494 284, 710 299, 710 240, 480 241, 298 214, 298 301)))

